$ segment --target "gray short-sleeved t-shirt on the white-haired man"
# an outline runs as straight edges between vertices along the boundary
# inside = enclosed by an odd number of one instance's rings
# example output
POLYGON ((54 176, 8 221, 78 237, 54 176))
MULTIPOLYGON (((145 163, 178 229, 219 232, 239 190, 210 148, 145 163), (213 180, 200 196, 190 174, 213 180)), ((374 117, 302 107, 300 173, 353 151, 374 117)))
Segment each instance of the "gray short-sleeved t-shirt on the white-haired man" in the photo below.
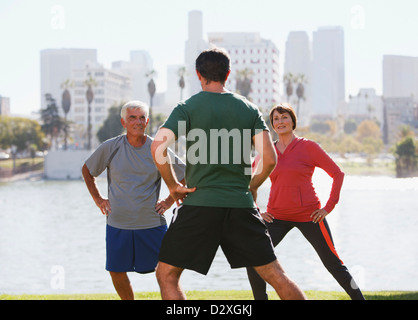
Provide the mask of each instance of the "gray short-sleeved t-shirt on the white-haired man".
MULTIPOLYGON (((107 169, 108 198, 112 212, 107 224, 119 229, 149 229, 167 224, 155 211, 160 196, 161 175, 151 155, 152 138, 133 147, 121 135, 103 142, 87 159, 90 174, 99 176, 107 169)), ((169 150, 179 180, 184 178, 185 164, 169 150)))

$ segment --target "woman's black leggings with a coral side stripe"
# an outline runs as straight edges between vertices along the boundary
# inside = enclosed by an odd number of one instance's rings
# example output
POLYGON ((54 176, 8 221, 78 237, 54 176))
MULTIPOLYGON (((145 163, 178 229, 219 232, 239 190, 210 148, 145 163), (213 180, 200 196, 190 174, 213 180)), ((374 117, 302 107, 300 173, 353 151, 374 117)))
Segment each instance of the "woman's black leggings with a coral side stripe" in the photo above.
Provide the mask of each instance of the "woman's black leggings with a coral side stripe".
MULTIPOLYGON (((353 277, 335 251, 331 232, 326 220, 321 223, 313 223, 274 219, 272 223, 266 222, 266 225, 274 246, 277 246, 291 229, 294 227, 298 228, 314 247, 324 266, 347 292, 350 298, 353 300, 364 300, 363 294, 354 282, 353 277)), ((253 290, 254 299, 267 300, 267 286, 264 280, 253 268, 247 268, 247 274, 253 290)))

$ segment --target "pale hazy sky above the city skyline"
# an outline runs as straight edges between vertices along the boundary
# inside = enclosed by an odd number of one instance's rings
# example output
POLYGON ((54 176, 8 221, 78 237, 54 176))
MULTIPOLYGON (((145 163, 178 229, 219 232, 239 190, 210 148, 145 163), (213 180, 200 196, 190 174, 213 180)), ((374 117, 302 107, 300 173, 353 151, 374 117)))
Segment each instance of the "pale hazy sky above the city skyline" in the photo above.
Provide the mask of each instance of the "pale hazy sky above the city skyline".
POLYGON ((260 32, 283 61, 289 31, 340 25, 345 31, 346 93, 382 90, 384 54, 418 56, 414 0, 1 0, 0 95, 14 114, 40 109, 40 51, 94 48, 99 62, 128 60, 148 50, 165 86, 167 64, 184 60, 188 12, 203 12, 204 36, 214 31, 260 32))

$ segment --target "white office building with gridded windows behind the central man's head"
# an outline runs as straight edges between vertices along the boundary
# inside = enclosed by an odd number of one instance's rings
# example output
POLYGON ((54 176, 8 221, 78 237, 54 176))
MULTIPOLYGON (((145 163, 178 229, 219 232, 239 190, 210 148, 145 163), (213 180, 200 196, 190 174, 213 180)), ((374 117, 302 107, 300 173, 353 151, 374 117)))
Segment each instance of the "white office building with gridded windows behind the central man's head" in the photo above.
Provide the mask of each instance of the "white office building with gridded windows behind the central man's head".
POLYGON ((248 97, 263 111, 268 112, 280 101, 279 50, 272 41, 261 38, 257 32, 214 32, 208 38, 211 44, 224 48, 231 58, 227 89, 236 91, 237 78, 244 72, 251 80, 248 97))

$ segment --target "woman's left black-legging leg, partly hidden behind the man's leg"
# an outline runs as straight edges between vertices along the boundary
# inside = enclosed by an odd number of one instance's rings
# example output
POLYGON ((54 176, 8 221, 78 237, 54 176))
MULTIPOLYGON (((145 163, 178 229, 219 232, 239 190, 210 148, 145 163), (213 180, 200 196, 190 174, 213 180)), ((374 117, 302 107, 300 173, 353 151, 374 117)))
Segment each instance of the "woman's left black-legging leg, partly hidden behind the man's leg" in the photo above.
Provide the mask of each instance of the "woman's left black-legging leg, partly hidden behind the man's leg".
MULTIPOLYGON (((293 228, 293 223, 274 219, 272 223, 266 222, 273 246, 277 246, 285 235, 293 228)), ((248 280, 255 300, 268 300, 266 282, 258 275, 254 268, 247 268, 248 280)))

